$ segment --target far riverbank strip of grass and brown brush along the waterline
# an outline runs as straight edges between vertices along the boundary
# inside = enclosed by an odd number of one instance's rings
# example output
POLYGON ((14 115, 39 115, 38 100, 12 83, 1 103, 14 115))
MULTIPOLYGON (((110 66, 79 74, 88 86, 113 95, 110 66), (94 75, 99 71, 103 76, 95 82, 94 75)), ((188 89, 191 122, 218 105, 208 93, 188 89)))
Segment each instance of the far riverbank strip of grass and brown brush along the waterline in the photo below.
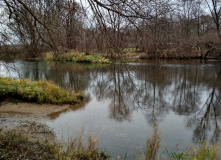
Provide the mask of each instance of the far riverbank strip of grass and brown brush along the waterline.
MULTIPOLYGON (((106 51, 104 53, 91 51, 90 53, 85 53, 77 50, 68 50, 62 52, 43 52, 36 58, 30 58, 28 55, 17 55, 16 57, 18 57, 18 59, 34 61, 44 60, 99 64, 109 64, 112 61, 133 62, 138 60, 221 60, 221 49, 204 49, 200 52, 197 50, 187 52, 176 49, 144 52, 137 50, 136 48, 125 48, 122 51, 119 51, 119 53, 112 53, 112 51, 106 51)), ((16 59, 16 57, 13 59, 16 59)), ((4 56, 2 56, 2 58, 7 59, 4 58, 4 56)))

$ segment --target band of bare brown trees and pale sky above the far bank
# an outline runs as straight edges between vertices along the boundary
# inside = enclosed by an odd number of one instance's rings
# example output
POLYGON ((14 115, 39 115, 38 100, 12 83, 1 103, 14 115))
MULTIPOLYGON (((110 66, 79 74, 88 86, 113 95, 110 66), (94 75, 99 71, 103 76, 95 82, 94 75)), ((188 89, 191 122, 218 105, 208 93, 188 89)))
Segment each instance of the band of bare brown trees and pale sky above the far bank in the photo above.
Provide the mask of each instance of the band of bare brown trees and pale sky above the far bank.
POLYGON ((219 0, 0 1, 0 54, 197 53, 221 42, 219 0))

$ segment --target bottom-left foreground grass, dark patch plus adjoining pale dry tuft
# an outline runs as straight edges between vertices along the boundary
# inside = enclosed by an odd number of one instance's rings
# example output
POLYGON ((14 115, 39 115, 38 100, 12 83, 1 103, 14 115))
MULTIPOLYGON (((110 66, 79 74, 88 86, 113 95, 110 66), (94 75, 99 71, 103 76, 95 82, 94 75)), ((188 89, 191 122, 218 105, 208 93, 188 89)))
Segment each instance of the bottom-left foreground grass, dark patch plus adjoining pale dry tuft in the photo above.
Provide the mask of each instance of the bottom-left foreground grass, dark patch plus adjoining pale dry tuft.
POLYGON ((66 151, 58 144, 31 142, 20 133, 9 131, 0 134, 0 159, 108 159, 104 152, 98 151, 99 141, 92 136, 88 144, 83 142, 82 134, 73 139, 66 151))

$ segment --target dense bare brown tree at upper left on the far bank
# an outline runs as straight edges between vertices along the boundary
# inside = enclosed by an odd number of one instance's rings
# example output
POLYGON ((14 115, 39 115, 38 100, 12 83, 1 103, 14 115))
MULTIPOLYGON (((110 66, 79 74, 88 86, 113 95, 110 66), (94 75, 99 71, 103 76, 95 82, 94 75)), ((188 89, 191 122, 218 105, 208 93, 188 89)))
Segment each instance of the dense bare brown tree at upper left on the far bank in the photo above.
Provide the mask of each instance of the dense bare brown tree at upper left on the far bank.
POLYGON ((59 46, 77 48, 81 40, 83 11, 74 0, 2 0, 1 6, 7 29, 19 39, 16 45, 31 57, 38 57, 47 46, 54 51, 59 46))

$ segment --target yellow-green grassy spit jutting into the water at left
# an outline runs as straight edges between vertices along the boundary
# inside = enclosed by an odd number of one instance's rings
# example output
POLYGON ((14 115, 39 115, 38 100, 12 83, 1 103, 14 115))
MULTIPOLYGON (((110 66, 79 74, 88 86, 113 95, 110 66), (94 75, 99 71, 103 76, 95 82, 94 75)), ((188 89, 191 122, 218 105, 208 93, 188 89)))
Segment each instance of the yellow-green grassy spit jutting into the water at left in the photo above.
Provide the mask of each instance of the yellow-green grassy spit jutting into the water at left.
POLYGON ((0 77, 0 97, 37 103, 75 104, 83 99, 83 93, 63 90, 44 80, 13 80, 0 77))

